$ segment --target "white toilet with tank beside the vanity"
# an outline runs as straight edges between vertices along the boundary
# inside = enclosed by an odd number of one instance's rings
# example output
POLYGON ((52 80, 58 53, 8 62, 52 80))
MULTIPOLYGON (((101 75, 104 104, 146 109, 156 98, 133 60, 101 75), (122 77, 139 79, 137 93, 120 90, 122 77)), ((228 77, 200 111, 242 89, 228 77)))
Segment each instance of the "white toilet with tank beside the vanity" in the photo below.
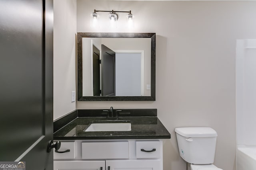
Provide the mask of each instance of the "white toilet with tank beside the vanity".
POLYGON ((175 128, 180 156, 191 170, 222 170, 214 164, 217 133, 210 127, 175 128))

